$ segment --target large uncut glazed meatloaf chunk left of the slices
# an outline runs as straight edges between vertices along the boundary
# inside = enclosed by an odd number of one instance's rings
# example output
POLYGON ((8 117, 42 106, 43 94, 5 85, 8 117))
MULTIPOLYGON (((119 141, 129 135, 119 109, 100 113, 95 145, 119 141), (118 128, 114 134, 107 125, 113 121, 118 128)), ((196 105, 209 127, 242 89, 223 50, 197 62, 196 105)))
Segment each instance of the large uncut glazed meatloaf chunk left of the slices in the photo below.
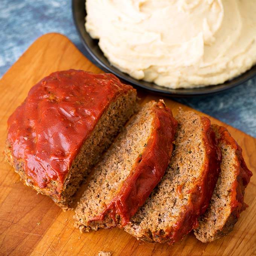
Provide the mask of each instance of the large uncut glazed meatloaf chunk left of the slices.
POLYGON ((25 184, 68 209, 136 102, 136 90, 112 74, 52 73, 9 117, 7 159, 25 184))

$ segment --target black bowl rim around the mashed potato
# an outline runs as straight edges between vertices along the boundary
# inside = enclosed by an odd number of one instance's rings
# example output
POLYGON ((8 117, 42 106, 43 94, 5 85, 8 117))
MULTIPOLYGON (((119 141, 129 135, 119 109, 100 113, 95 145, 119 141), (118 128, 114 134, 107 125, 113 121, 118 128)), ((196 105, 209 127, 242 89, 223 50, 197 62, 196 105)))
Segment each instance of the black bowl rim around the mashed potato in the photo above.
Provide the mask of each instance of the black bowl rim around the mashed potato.
POLYGON ((118 76, 123 81, 126 81, 130 84, 133 84, 135 87, 143 88, 147 91, 155 92, 158 94, 164 94, 165 96, 172 97, 186 97, 186 96, 198 96, 217 93, 220 91, 227 90, 229 88, 235 87, 239 84, 244 83, 253 76, 256 75, 256 66, 252 67, 247 72, 243 73, 241 76, 238 76, 230 81, 225 82, 224 84, 211 85, 208 87, 202 88, 193 88, 193 89, 170 89, 158 86, 151 82, 145 82, 143 80, 137 80, 131 76, 121 72, 110 64, 107 58, 105 58, 101 49, 98 46, 98 40, 94 40, 86 32, 84 23, 85 23, 85 0, 72 0, 72 11, 73 19, 76 25, 78 34, 82 40, 82 43, 87 50, 87 56, 89 59, 96 63, 96 65, 104 70, 105 72, 111 72, 118 76))

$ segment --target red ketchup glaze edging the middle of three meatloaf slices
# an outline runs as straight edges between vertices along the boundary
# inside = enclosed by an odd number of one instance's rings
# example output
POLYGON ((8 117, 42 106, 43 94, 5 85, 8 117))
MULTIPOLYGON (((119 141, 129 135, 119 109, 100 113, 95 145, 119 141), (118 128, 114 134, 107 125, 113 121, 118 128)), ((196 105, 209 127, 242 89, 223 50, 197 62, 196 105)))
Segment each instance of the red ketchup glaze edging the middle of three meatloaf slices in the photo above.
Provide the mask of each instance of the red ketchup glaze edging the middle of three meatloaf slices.
MULTIPOLYGON (((198 217, 203 214, 212 198, 213 190, 220 172, 221 151, 217 146, 215 133, 213 132, 210 120, 201 117, 203 124, 203 141, 206 147, 206 162, 204 172, 195 183, 193 189, 187 191, 190 194, 187 205, 180 213, 180 219, 175 226, 165 230, 166 242, 173 244, 183 239, 192 229, 198 227, 198 217)), ((159 240, 159 233, 154 233, 155 241, 159 240)), ((159 240, 161 242, 162 239, 159 240)))

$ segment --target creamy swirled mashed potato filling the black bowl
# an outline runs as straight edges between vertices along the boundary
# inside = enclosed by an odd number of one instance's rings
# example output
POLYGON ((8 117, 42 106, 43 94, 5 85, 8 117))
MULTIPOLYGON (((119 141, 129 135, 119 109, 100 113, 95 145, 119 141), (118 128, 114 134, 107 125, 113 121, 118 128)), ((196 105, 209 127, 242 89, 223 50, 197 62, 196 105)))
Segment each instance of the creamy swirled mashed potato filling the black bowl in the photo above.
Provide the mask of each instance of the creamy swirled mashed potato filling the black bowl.
POLYGON ((87 0, 108 60, 169 88, 220 84, 256 63, 256 0, 87 0))

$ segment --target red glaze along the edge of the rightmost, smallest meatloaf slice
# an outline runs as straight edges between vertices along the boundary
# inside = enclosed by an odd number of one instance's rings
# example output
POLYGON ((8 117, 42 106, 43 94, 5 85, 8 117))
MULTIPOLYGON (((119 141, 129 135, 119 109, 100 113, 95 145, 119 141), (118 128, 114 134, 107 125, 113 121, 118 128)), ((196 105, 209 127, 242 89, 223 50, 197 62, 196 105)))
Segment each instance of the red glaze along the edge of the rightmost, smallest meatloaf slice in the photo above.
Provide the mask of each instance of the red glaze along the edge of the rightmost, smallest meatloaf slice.
POLYGON ((235 165, 236 180, 233 181, 231 189, 231 214, 234 218, 239 218, 240 213, 248 207, 248 205, 244 203, 244 190, 253 174, 244 162, 241 147, 236 143, 233 137, 231 137, 228 130, 218 125, 215 125, 215 129, 219 133, 219 142, 222 141, 230 145, 230 147, 235 150, 236 157, 238 158, 237 165, 235 165))

